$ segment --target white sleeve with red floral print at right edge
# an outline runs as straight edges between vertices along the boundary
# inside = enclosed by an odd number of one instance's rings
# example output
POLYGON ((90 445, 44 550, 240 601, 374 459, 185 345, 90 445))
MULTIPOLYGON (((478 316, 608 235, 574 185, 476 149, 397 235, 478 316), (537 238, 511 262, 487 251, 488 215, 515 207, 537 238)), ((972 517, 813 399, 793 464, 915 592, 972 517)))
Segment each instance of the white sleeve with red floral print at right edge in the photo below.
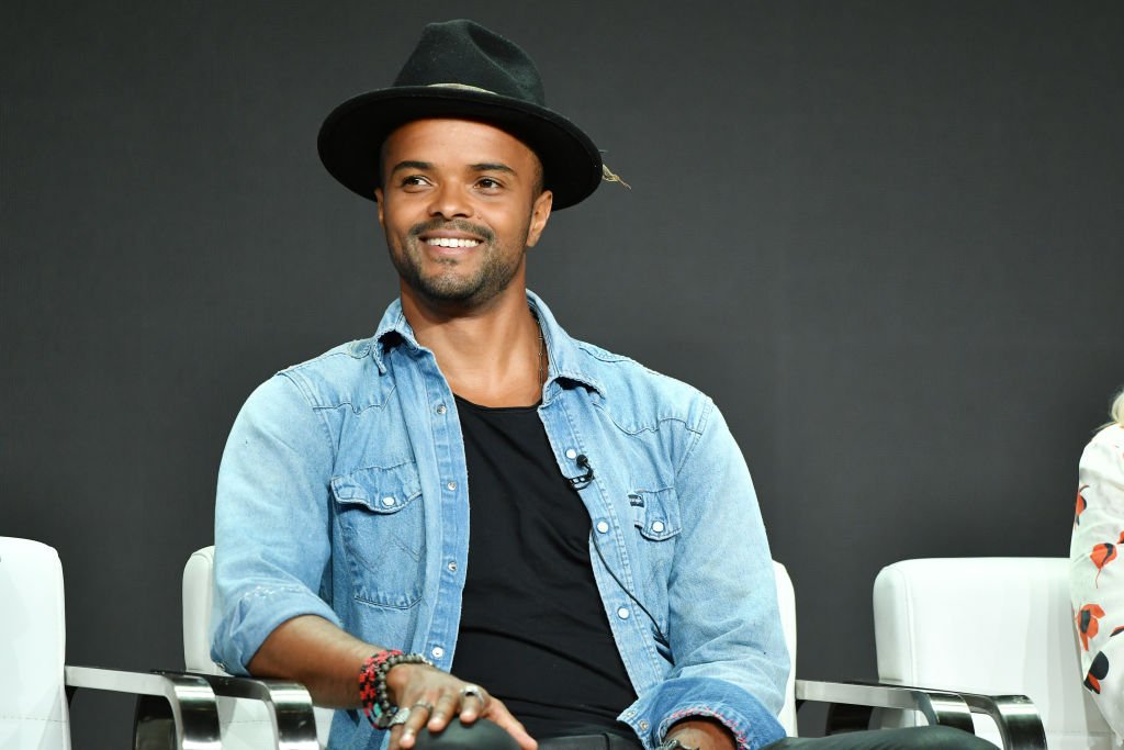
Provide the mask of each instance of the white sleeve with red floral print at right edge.
POLYGON ((1081 454, 1069 558, 1085 687, 1124 737, 1124 426, 1105 427, 1081 454))

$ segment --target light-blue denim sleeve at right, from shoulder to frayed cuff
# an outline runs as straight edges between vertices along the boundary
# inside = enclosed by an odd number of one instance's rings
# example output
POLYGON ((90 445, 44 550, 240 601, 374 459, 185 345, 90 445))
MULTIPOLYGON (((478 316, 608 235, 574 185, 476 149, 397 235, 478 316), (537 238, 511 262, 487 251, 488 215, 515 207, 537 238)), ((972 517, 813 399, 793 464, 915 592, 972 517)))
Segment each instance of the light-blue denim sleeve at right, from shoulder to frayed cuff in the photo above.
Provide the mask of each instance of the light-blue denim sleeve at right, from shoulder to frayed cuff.
POLYGON ((709 399, 677 493, 683 527, 669 580, 673 667, 634 704, 629 723, 646 728, 654 746, 676 722, 709 716, 738 748, 756 750, 785 737, 777 713, 790 661, 749 469, 709 399))

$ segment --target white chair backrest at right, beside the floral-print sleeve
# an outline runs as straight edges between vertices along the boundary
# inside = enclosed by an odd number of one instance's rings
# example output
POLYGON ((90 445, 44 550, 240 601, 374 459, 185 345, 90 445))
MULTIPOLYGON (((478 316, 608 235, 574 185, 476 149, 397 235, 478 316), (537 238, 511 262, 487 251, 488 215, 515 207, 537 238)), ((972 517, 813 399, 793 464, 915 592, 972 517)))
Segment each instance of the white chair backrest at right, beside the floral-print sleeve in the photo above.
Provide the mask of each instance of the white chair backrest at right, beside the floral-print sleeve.
POLYGON ((896 562, 874 580, 874 640, 882 681, 1025 695, 1051 750, 1115 747, 1081 684, 1067 558, 896 562))

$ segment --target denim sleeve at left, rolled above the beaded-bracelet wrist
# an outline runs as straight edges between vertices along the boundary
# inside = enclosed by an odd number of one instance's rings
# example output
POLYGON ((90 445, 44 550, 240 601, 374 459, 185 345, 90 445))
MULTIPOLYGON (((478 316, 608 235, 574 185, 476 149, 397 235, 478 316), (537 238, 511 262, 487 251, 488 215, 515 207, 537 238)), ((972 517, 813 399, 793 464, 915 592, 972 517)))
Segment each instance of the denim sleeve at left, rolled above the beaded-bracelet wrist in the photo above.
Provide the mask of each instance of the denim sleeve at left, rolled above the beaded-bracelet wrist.
POLYGON ((298 615, 339 624, 330 581, 333 443, 323 417, 281 373, 247 399, 223 454, 215 508, 211 658, 232 674, 298 615))

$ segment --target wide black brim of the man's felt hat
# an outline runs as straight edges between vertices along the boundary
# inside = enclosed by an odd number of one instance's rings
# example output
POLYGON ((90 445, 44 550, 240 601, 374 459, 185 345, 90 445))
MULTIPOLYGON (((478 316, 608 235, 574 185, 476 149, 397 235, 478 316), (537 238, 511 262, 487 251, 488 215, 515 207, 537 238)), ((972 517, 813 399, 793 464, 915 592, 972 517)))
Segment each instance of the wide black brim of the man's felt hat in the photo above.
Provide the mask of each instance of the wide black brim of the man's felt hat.
POLYGON ((430 117, 480 120, 523 141, 543 163, 554 209, 580 202, 601 182, 600 152, 566 118, 520 99, 443 87, 397 87, 348 99, 320 126, 320 161, 348 189, 374 200, 382 142, 406 123, 430 117))

